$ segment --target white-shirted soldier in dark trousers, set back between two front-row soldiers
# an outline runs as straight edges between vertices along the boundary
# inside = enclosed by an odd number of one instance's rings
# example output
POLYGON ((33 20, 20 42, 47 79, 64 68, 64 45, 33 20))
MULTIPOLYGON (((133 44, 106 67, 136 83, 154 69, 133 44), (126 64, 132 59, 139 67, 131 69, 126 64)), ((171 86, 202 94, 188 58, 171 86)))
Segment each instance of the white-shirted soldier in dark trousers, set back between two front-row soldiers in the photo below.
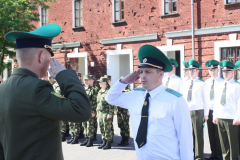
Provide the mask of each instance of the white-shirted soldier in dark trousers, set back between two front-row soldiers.
POLYGON ((218 135, 217 125, 214 124, 213 121, 213 106, 214 106, 214 92, 216 91, 216 86, 223 81, 223 78, 218 75, 219 62, 216 60, 209 60, 205 63, 205 66, 208 68, 209 75, 211 76, 209 79, 205 81, 205 89, 206 94, 208 95, 206 98, 206 103, 209 106, 209 115, 207 120, 208 126, 208 137, 211 148, 211 155, 207 160, 217 160, 222 156, 220 140, 218 135))

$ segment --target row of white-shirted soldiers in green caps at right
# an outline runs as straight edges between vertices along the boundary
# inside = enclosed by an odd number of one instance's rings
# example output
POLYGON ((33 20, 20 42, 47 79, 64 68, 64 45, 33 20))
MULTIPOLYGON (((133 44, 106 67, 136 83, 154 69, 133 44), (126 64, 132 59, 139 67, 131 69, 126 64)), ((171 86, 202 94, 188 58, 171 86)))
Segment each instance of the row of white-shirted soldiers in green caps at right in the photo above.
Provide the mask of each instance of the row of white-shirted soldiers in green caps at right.
POLYGON ((180 92, 187 101, 193 127, 194 159, 203 160, 203 129, 207 122, 210 157, 205 159, 238 160, 240 124, 240 85, 234 79, 234 70, 240 74, 240 61, 205 63, 210 78, 198 77, 201 65, 196 60, 183 61, 185 77, 175 75, 176 60, 168 58, 173 70, 163 79, 165 87, 180 92), (219 65, 223 77, 219 76, 219 65))

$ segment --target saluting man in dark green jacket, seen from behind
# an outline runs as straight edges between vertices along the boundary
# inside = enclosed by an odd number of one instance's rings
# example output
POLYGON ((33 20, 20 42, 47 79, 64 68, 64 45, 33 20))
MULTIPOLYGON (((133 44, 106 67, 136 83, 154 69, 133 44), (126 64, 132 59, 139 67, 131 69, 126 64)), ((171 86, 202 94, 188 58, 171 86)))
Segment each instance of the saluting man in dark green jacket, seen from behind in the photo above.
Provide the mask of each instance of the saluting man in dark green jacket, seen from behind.
POLYGON ((59 25, 47 24, 5 35, 16 41, 19 68, 0 85, 0 160, 63 160, 60 121, 84 122, 91 117, 76 72, 51 59, 52 39, 60 32, 59 25), (64 96, 40 79, 48 69, 64 96))

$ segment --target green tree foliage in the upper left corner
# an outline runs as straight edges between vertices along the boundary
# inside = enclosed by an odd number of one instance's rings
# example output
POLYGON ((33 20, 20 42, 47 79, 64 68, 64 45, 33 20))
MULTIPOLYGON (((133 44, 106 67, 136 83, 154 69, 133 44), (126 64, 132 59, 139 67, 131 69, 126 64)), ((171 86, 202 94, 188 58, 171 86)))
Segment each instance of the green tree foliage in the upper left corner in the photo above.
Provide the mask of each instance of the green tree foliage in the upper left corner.
POLYGON ((15 42, 8 42, 4 35, 10 31, 32 31, 34 21, 39 21, 38 7, 49 8, 46 2, 54 0, 0 0, 0 74, 3 70, 11 67, 11 62, 4 63, 4 56, 14 58, 15 42))

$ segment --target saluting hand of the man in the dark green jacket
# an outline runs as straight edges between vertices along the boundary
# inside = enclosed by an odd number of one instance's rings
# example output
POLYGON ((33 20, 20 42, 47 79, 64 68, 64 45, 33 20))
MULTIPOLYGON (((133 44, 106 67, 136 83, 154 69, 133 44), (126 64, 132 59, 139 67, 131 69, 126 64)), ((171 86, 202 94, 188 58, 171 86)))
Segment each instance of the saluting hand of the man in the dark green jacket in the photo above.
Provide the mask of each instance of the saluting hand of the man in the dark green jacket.
POLYGON ((49 74, 51 77, 55 78, 56 75, 65 70, 66 68, 55 58, 50 59, 50 68, 48 69, 49 74))

